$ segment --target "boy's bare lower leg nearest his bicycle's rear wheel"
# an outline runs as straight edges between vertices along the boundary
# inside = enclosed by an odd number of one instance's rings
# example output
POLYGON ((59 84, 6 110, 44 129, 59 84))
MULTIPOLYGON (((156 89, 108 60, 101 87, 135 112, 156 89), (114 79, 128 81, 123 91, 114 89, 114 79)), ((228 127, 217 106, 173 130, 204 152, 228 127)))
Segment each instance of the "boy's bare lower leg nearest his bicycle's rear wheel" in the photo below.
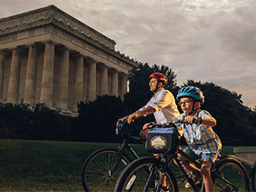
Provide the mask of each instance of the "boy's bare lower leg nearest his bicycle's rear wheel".
POLYGON ((205 191, 214 191, 213 190, 213 180, 210 177, 210 168, 212 166, 212 162, 204 159, 203 164, 201 166, 200 174, 204 180, 205 191))

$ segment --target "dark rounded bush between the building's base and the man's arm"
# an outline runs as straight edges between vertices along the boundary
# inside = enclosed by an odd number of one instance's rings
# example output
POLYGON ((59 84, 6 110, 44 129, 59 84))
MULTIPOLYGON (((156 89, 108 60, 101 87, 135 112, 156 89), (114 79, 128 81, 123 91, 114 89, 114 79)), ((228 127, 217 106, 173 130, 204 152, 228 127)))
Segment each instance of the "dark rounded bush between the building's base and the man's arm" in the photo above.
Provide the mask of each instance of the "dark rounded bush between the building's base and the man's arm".
POLYGON ((107 95, 97 96, 93 102, 79 103, 78 112, 73 137, 98 142, 116 141, 115 123, 126 114, 120 97, 107 95))

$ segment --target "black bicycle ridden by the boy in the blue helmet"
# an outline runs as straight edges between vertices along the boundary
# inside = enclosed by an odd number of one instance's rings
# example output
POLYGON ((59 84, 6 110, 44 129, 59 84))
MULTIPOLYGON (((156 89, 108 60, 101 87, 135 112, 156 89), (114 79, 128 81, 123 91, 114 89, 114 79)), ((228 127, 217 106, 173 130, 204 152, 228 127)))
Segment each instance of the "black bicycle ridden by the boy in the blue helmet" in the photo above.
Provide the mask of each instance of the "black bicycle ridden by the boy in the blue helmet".
MULTIPOLYGON (((155 128, 172 127, 176 130, 175 124, 178 122, 181 123, 181 121, 173 121, 169 124, 153 126, 155 128)), ((204 182, 195 180, 195 175, 185 168, 178 154, 185 156, 191 165, 200 170, 201 163, 180 150, 178 142, 165 153, 158 154, 158 158, 146 156, 131 162, 119 175, 115 191, 164 191, 166 189, 179 191, 175 175, 168 166, 173 160, 178 164, 191 188, 194 191, 204 191, 204 182), (166 182, 165 189, 162 187, 163 181, 166 182)), ((244 166, 232 157, 226 157, 214 163, 211 168, 211 177, 216 191, 249 190, 248 175, 244 166)))

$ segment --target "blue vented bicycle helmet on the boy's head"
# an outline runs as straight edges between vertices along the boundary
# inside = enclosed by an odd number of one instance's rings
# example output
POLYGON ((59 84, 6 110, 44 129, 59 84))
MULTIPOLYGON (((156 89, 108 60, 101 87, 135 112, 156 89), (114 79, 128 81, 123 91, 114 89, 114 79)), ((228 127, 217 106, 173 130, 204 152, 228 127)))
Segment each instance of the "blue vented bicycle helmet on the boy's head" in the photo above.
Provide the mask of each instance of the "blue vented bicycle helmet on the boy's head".
POLYGON ((191 97, 199 102, 201 104, 204 103, 204 93, 201 92, 201 90, 198 87, 188 86, 188 87, 182 87, 182 89, 179 90, 178 95, 176 96, 176 99, 179 101, 184 96, 191 97))

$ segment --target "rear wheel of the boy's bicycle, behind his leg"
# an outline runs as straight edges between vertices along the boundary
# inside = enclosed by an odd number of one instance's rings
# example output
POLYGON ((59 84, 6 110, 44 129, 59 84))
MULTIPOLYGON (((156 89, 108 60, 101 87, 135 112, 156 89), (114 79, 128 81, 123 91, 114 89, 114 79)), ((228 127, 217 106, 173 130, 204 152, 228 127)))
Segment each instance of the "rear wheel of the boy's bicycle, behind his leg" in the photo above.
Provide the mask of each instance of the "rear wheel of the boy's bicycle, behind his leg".
POLYGON ((248 175, 237 159, 227 157, 216 162, 212 175, 215 191, 248 191, 248 175))

